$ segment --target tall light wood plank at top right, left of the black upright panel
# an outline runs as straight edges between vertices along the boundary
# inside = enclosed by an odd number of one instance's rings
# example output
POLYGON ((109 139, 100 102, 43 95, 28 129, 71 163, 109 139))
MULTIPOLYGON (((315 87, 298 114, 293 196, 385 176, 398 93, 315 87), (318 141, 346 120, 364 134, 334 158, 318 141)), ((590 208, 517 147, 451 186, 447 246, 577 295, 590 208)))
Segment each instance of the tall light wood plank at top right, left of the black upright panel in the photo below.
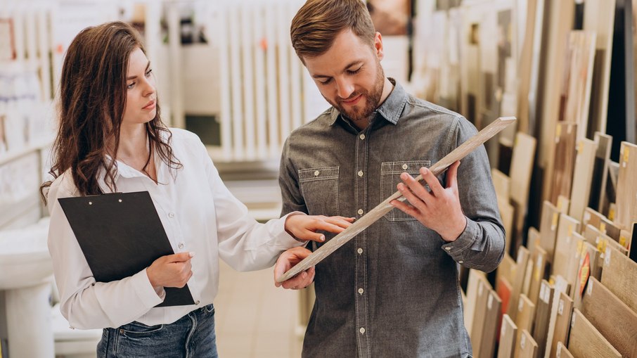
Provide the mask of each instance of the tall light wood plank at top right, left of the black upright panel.
POLYGON ((588 138, 596 131, 606 132, 608 88, 610 85, 610 56, 612 53, 615 0, 586 0, 583 29, 597 34, 593 91, 588 122, 588 138))

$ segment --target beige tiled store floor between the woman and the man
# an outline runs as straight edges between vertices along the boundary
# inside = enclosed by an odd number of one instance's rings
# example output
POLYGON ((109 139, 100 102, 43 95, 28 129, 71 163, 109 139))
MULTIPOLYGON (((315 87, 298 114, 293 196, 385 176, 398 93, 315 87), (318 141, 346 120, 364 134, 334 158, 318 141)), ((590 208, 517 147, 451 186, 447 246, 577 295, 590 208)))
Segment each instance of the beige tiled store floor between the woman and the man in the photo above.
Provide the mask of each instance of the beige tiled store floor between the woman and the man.
POLYGON ((237 272, 221 262, 214 300, 221 358, 301 357, 299 295, 274 287, 272 269, 237 272))

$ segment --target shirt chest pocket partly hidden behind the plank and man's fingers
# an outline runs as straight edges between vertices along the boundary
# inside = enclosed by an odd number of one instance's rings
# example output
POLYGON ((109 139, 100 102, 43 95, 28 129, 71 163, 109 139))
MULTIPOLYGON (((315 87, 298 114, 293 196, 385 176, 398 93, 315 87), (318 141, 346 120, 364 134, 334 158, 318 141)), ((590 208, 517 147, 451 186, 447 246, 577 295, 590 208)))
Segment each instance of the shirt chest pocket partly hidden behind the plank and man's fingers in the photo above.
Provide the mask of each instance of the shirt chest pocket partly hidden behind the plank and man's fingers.
MULTIPOLYGON (((408 174, 411 174, 412 177, 416 177, 420 174, 419 170, 421 167, 431 167, 431 160, 406 160, 380 163, 381 199, 385 200, 398 190, 396 186, 402 182, 400 174, 407 172, 408 174)), ((416 220, 398 209, 392 209, 390 212, 387 212, 387 214, 385 214, 385 219, 390 222, 416 220)))

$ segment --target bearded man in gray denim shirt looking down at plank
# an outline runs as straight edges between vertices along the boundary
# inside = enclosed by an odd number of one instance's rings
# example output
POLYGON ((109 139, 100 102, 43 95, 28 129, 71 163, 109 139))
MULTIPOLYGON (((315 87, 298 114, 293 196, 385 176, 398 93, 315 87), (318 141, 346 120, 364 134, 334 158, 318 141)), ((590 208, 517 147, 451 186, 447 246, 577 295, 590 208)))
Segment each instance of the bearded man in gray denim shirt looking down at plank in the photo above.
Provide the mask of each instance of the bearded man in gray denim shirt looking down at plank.
MULTIPOLYGON (((440 179, 426 168, 475 127, 385 77, 382 37, 360 0, 307 1, 291 37, 332 108, 285 143, 283 214, 359 218, 397 188, 408 200, 394 200, 396 208, 315 271, 283 283, 301 288, 316 275, 303 357, 470 356, 458 264, 492 271, 504 251, 489 161, 480 147, 440 179), (414 181, 418 172, 431 191, 414 181)), ((309 253, 288 250, 275 275, 309 253)))

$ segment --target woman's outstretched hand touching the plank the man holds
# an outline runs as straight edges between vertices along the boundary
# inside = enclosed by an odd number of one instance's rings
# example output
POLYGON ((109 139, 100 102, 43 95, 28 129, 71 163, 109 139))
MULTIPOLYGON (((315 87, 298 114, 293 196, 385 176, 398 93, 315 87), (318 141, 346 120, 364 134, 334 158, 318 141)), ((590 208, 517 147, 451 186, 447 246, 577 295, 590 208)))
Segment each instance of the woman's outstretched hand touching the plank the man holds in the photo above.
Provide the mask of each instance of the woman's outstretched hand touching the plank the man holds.
POLYGON ((285 231, 300 240, 325 241, 325 235, 316 231, 335 234, 345 230, 354 222, 353 217, 325 217, 323 215, 290 215, 285 219, 285 231))

